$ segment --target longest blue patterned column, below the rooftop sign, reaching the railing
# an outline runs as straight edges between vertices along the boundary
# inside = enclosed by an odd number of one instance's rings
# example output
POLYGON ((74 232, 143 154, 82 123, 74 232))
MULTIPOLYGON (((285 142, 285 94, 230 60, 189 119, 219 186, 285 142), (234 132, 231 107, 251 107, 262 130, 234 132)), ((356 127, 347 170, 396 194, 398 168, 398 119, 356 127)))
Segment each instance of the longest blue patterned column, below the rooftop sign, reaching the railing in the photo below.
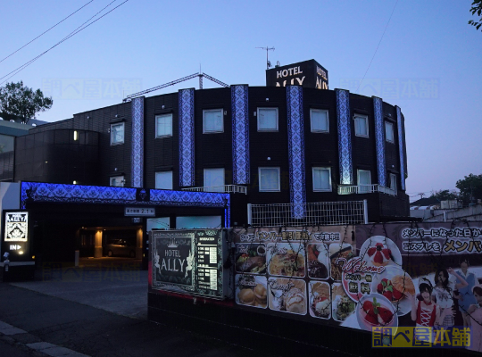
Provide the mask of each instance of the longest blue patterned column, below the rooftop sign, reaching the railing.
POLYGON ((303 136, 303 87, 287 86, 289 189, 293 218, 304 217, 306 203, 303 136))

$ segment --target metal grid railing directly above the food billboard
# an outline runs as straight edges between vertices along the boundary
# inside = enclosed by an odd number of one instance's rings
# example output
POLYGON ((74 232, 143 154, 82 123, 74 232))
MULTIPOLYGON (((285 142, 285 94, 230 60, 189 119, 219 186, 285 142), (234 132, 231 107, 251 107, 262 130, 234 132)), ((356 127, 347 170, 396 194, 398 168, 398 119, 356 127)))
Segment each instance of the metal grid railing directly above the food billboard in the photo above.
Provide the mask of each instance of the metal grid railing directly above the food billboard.
POLYGON ((299 227, 368 223, 367 200, 304 203, 302 206, 303 218, 296 219, 299 204, 295 207, 291 203, 248 203, 248 224, 253 227, 299 227))

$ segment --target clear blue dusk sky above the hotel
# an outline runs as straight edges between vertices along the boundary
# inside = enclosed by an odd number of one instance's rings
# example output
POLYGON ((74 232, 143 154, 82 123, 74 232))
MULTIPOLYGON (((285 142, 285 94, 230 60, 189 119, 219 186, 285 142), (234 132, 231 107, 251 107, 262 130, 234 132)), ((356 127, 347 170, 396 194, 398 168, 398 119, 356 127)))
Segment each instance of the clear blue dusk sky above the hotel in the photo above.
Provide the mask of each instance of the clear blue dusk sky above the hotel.
MULTIPOLYGON (((89 1, 0 0, 0 61, 89 1)), ((0 83, 40 88, 54 106, 37 119, 64 120, 200 65, 228 84, 264 86, 266 52, 255 47, 275 47, 273 64, 315 59, 328 70, 330 89, 402 108, 411 201, 482 173, 482 31, 467 23, 475 19, 472 0, 124 1, 90 2, 0 62, 0 83)), ((190 79, 149 95, 197 86, 190 79)), ((218 85, 204 79, 204 87, 218 85)))

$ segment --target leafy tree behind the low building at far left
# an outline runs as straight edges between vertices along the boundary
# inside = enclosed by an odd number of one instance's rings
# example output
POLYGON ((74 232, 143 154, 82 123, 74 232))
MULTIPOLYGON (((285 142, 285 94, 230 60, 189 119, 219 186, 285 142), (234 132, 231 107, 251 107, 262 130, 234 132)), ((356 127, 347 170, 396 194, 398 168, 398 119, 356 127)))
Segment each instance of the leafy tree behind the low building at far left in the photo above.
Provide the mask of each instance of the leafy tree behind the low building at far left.
POLYGON ((40 89, 34 91, 23 82, 7 83, 0 87, 0 113, 5 119, 21 117, 26 123, 35 119, 37 112, 45 112, 54 104, 52 97, 46 97, 40 89))

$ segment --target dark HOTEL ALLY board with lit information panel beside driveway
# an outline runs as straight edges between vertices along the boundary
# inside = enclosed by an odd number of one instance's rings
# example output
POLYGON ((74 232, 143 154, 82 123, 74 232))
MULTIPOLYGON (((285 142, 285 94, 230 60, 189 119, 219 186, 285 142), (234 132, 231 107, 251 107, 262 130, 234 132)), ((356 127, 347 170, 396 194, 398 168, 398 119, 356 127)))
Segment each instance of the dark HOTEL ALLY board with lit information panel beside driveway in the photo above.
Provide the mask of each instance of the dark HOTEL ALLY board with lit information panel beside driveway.
POLYGON ((151 288, 222 298, 223 235, 222 229, 154 230, 151 288))

